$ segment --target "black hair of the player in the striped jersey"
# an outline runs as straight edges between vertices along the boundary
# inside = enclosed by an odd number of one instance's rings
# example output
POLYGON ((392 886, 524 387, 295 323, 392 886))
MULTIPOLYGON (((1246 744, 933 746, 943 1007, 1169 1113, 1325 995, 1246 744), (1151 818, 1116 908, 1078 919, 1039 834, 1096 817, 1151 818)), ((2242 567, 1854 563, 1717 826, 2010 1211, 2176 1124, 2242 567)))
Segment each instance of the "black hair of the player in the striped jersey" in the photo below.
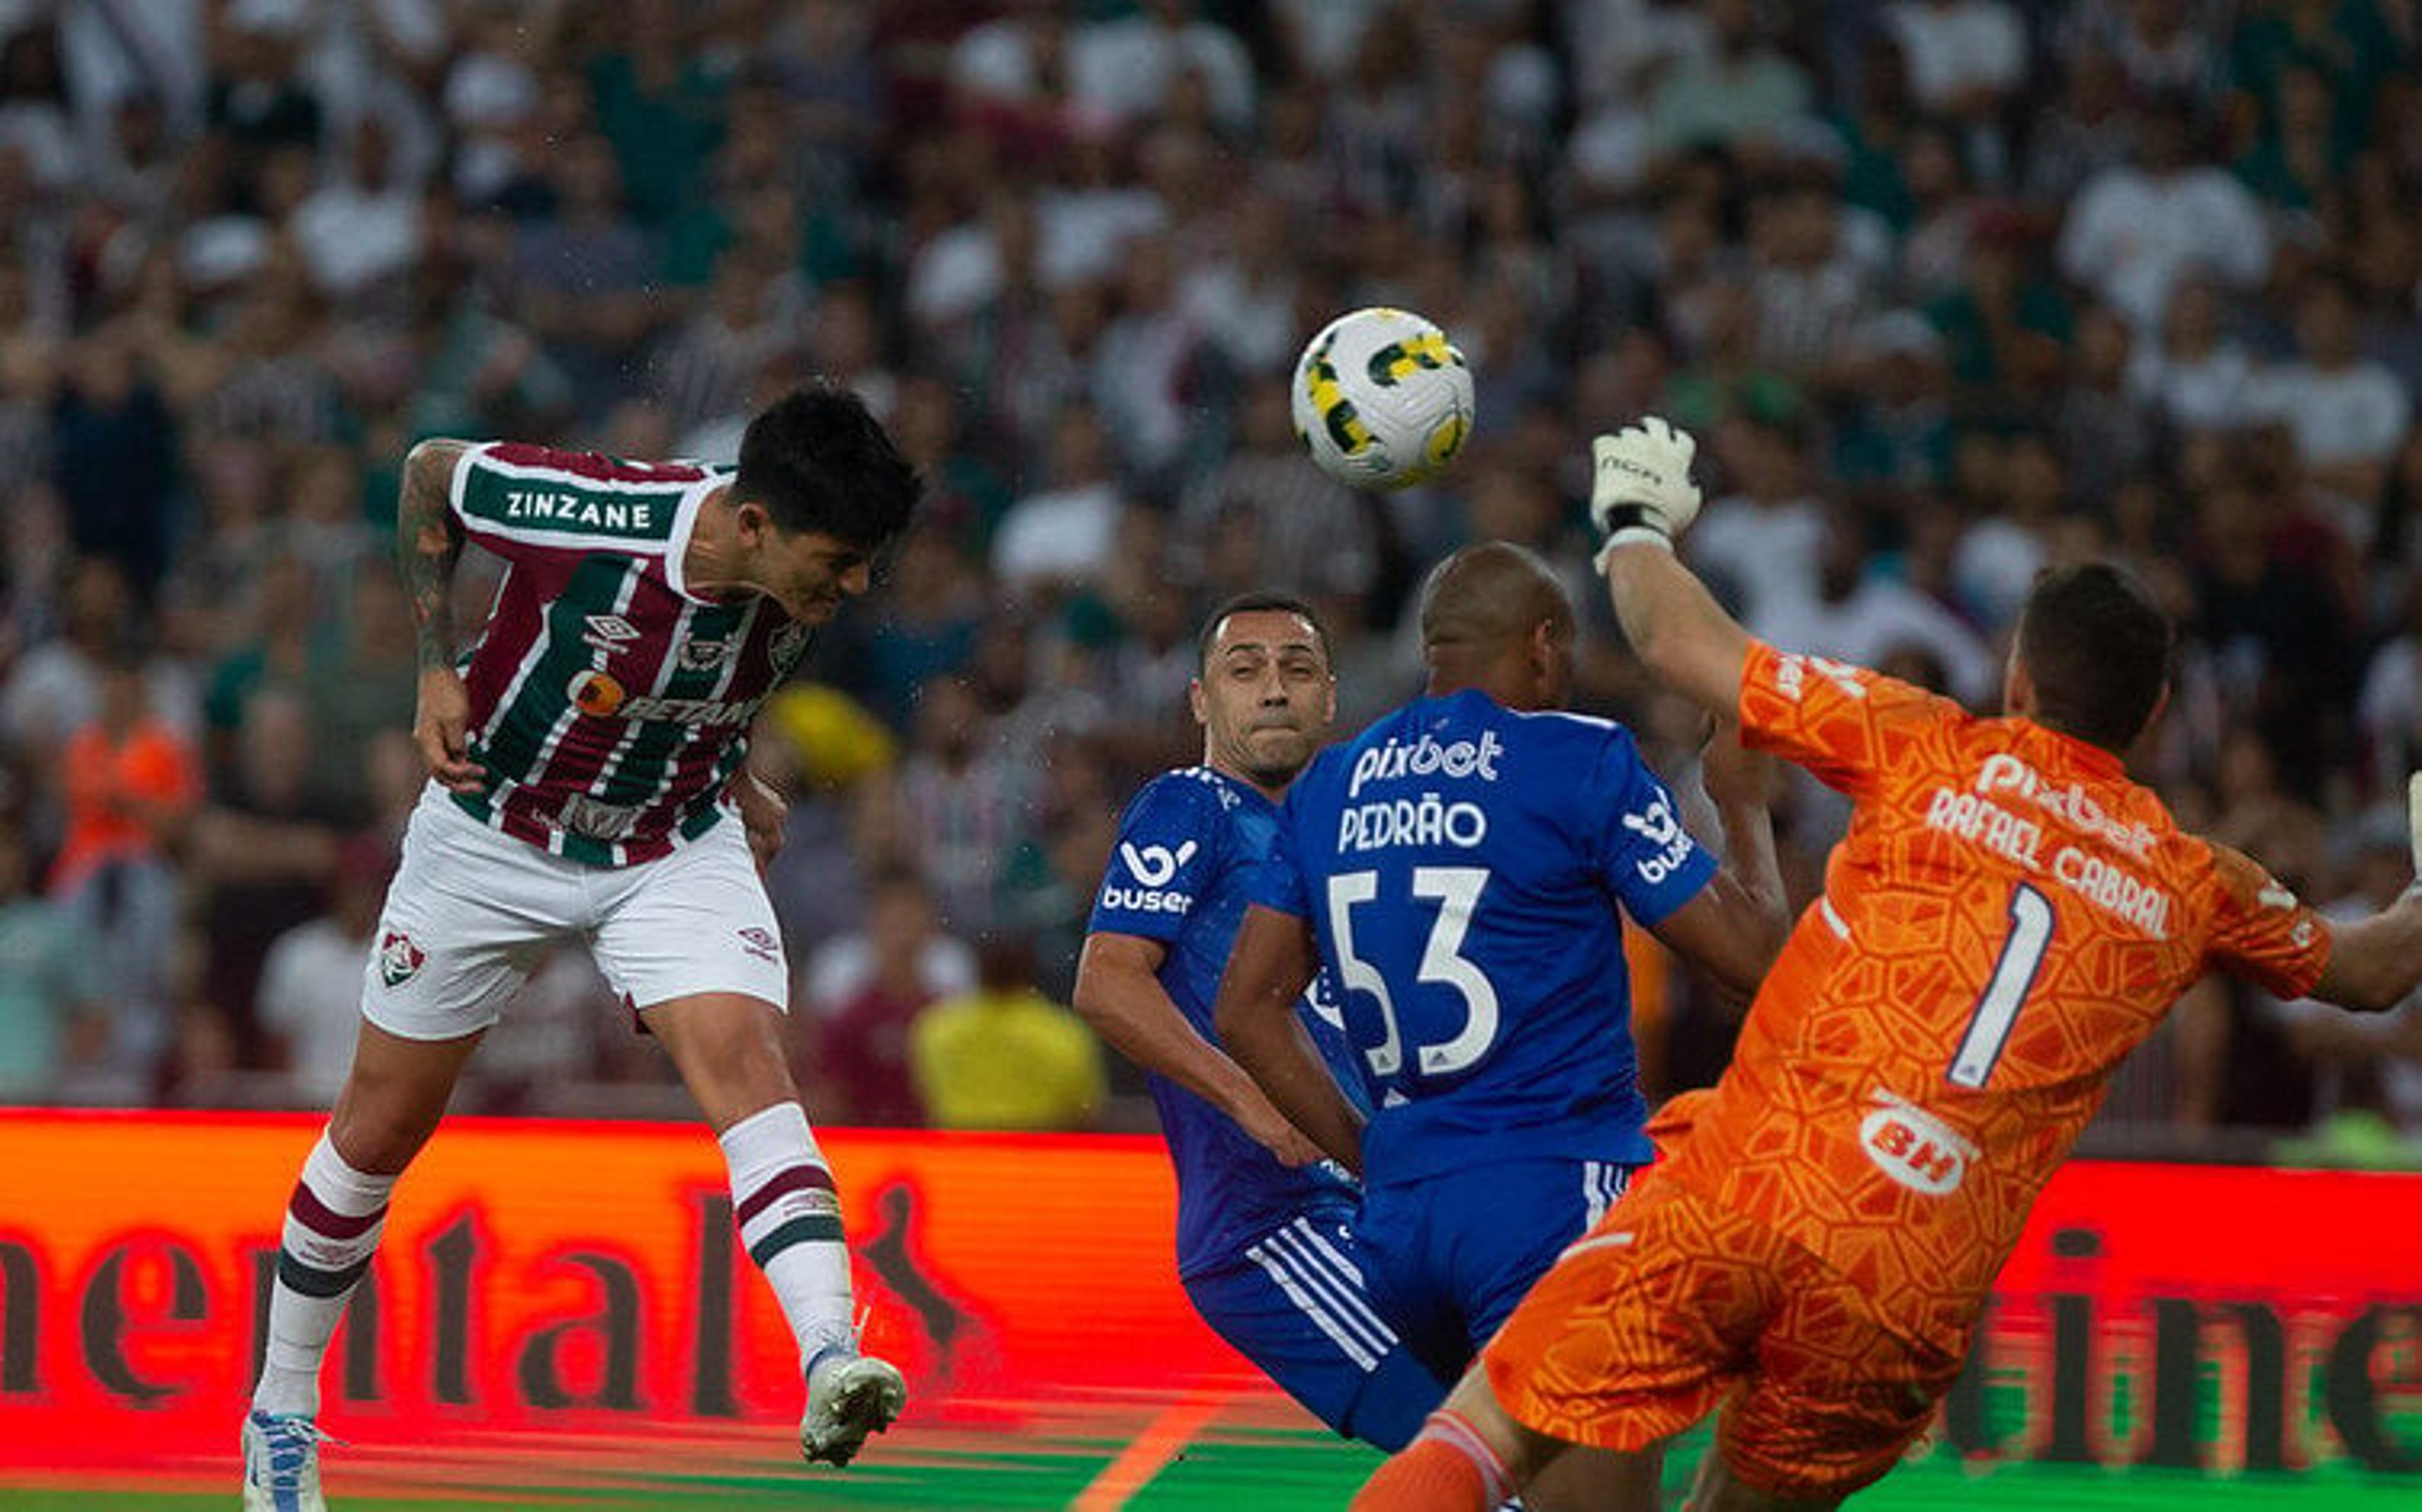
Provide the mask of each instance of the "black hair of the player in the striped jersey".
POLYGON ((731 489, 787 533, 821 531, 877 550, 908 528, 925 485, 865 400, 809 383, 748 422, 731 489))

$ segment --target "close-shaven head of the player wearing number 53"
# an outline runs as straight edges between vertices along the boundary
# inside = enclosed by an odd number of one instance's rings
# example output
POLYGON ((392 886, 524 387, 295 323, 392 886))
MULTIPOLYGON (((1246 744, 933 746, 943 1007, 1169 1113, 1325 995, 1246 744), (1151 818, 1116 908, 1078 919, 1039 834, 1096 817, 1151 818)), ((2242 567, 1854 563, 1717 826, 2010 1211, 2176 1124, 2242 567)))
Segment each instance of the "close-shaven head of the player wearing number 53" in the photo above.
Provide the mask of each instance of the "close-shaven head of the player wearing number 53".
POLYGON ((1538 552, 1506 540, 1465 545, 1422 584, 1431 698, 1480 688, 1511 710, 1565 708, 1572 635, 1565 584, 1538 552))

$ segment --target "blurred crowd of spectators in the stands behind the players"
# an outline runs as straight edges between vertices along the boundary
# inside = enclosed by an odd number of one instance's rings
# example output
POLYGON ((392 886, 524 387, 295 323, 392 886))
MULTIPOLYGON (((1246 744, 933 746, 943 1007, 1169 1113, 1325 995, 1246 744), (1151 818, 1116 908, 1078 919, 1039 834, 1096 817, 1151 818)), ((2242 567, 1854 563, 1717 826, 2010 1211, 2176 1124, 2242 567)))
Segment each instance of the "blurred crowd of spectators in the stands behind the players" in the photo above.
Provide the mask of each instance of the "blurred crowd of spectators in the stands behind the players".
MULTIPOLYGON (((2124 557, 2185 628, 2139 771, 2311 897, 2395 892, 2417 12, 0 0, 0 1100, 329 1098, 419 783, 404 448, 729 460, 807 373, 932 485, 761 737, 821 1122, 1136 1117, 1056 1003, 1230 591, 1325 606, 1359 722, 1417 683, 1419 569, 1531 543, 1584 708, 1683 778, 1586 572, 1586 441, 1640 412, 1700 434, 1751 628, 1979 708, 2032 572, 2124 557), (1291 436, 1361 303, 1475 366, 1439 487, 1291 436), (1068 1073, 983 1086, 1022 1056, 1068 1073)), ((1804 894, 1841 809, 1780 821, 1804 894)), ((1652 1081, 1710 1078, 1722 1015, 1637 969, 1652 1081)), ((678 1110, 601 991, 543 967, 460 1105, 678 1110)), ((2214 986, 2102 1134, 2330 1117, 2422 1134, 2422 1015, 2214 986)))

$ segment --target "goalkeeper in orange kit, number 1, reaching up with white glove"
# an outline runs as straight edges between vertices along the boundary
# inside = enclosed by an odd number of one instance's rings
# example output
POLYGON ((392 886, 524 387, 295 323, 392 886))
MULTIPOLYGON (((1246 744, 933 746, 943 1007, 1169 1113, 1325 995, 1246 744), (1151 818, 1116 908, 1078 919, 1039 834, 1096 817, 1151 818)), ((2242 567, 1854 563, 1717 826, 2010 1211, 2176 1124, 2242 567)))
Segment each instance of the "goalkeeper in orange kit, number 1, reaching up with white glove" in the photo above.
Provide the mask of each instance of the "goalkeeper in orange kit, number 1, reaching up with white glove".
POLYGON ((2003 717, 1751 640, 1674 555, 1691 436, 1596 441, 1599 562, 1640 659, 1855 804, 1734 1064, 1671 1158, 1557 1260, 1356 1507, 1492 1507, 1569 1451, 1722 1405, 1693 1507, 1833 1507, 1959 1374, 1993 1275, 2127 1056, 2206 969, 2381 1010, 2415 892, 2332 926, 2127 778, 2170 625, 2117 567, 2047 572, 2003 717))

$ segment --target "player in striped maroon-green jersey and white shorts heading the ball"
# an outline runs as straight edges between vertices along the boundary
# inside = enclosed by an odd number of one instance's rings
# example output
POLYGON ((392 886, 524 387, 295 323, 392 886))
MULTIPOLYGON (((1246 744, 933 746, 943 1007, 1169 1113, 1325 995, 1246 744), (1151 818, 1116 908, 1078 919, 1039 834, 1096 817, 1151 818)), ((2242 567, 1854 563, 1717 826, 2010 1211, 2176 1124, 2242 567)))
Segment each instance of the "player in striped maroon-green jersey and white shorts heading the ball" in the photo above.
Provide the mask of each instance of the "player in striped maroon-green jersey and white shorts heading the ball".
POLYGON ((744 763, 758 705, 867 591, 918 492, 865 405, 831 388, 758 414, 739 470, 412 448, 397 557, 431 783, 378 921, 351 1076, 286 1207, 245 1507, 325 1507, 320 1364, 395 1180, 501 1003, 572 938, 722 1144, 741 1241, 799 1340, 804 1454, 848 1464, 899 1415, 901 1374, 857 1352, 840 1199, 782 1056, 790 969, 756 870, 782 841, 782 800, 744 763), (465 540, 506 574, 458 662, 465 540))

